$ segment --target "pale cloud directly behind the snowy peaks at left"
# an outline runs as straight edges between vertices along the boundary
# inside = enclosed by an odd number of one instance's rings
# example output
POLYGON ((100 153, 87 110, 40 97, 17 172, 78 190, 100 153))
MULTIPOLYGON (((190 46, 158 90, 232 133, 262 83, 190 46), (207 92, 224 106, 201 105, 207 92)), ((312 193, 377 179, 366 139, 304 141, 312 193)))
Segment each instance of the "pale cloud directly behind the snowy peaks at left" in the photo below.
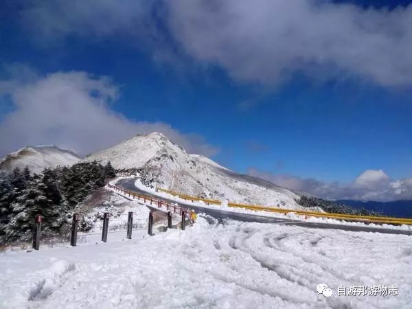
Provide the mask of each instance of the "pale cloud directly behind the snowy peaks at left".
POLYGON ((110 78, 84 72, 57 72, 35 80, 0 81, 14 111, 0 123, 0 155, 26 145, 56 144, 85 155, 139 133, 164 133, 188 152, 211 156, 218 151, 200 135, 183 134, 163 122, 133 122, 111 104, 119 89, 110 78))

